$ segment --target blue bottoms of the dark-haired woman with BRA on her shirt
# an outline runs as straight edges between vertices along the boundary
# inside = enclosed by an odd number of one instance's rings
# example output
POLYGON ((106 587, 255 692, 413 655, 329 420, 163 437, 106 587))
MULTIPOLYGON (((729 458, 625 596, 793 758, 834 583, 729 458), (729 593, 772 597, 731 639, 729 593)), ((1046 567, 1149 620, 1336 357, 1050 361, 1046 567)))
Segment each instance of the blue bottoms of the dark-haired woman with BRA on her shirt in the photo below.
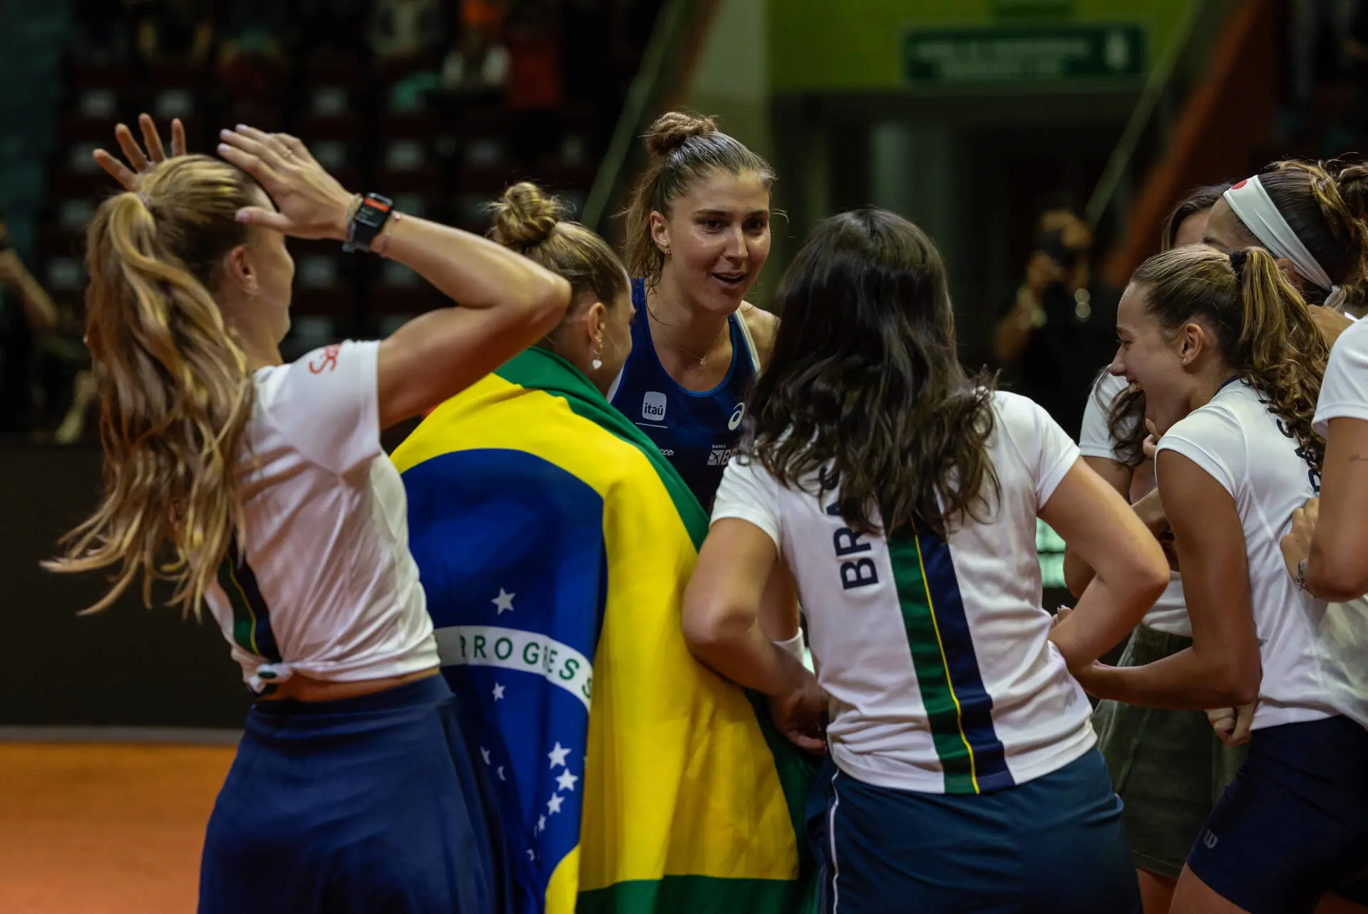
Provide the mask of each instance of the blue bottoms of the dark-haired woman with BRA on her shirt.
POLYGON ((1120 800, 1096 750, 981 795, 874 787, 830 763, 825 783, 826 815, 811 820, 824 911, 1141 911, 1120 800))

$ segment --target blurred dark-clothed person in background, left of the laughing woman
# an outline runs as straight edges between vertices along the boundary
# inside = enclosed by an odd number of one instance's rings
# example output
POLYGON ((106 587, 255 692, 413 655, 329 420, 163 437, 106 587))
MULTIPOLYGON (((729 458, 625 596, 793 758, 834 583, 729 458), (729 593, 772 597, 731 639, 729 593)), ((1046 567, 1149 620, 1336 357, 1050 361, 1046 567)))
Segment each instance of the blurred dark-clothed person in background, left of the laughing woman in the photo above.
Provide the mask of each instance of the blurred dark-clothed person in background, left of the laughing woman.
POLYGON ((1001 309, 993 356, 1007 386, 1077 441, 1097 365, 1116 349, 1116 297, 1089 283, 1093 231, 1071 209, 1041 213, 1031 245, 1022 285, 1001 309))

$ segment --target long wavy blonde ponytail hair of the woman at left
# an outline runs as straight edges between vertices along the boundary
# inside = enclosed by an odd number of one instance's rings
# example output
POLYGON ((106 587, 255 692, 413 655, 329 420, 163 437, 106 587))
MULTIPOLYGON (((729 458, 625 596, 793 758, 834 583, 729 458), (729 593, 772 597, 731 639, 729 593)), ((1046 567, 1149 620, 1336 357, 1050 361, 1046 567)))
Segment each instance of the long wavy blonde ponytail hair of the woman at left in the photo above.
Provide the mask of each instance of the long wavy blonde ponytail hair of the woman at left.
POLYGON ((200 610, 242 524, 235 468, 252 417, 248 358, 209 293, 248 239, 234 219, 256 183, 208 156, 176 156, 140 193, 105 200, 86 237, 86 343, 100 382, 104 501, 63 538, 57 572, 118 566, 112 603, 142 575, 200 610), (170 546, 170 554, 166 549, 170 546))

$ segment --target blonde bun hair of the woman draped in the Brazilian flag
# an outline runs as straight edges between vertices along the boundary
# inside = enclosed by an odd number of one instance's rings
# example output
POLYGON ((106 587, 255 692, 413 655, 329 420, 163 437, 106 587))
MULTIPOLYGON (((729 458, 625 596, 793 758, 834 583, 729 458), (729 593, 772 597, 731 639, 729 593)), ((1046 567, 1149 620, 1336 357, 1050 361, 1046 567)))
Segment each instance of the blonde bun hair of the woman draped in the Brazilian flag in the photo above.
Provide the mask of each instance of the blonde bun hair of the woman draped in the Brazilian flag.
MULTIPOLYGON (((490 238, 570 283, 570 320, 594 301, 605 308, 628 293, 627 271, 606 241, 577 222, 568 222, 569 208, 555 197, 524 181, 503 192, 488 205, 494 215, 490 238)), ((562 320, 564 324, 564 320, 562 320)), ((542 341, 557 349, 553 330, 542 341)))

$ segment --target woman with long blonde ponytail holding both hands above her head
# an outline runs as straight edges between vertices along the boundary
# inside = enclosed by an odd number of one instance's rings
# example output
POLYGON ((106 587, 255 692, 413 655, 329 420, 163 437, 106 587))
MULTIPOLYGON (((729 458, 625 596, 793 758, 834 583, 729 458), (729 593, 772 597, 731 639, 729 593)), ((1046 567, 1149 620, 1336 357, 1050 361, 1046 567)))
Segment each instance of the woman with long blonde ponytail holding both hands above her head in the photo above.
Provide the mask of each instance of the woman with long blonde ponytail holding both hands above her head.
POLYGON ((502 841, 436 676, 380 430, 542 338, 569 283, 347 193, 293 137, 222 137, 226 161, 101 161, 129 187, 89 230, 105 497, 49 568, 114 569, 92 612, 140 577, 145 603, 159 580, 182 612, 207 602, 257 695, 200 911, 505 910, 502 841), (286 235, 373 250, 462 306, 283 364, 286 235))

